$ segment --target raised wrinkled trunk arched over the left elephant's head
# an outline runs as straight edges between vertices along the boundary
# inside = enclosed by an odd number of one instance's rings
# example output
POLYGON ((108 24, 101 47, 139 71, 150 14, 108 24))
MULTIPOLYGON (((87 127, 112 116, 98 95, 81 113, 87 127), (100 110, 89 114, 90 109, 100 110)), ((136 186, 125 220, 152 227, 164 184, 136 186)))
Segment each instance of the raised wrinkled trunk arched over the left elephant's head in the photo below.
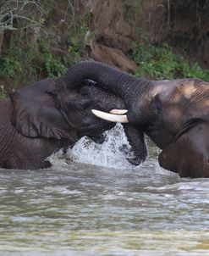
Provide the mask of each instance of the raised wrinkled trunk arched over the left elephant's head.
MULTIPOLYGON (((74 64, 69 68, 61 79, 69 88, 78 89, 78 85, 85 79, 96 81, 102 89, 112 92, 118 97, 124 98, 125 95, 134 97, 141 86, 146 86, 146 80, 137 79, 121 70, 109 67, 96 61, 83 61, 74 64), (136 86, 140 84, 141 86, 136 86)), ((143 90, 144 91, 144 90, 143 90)))

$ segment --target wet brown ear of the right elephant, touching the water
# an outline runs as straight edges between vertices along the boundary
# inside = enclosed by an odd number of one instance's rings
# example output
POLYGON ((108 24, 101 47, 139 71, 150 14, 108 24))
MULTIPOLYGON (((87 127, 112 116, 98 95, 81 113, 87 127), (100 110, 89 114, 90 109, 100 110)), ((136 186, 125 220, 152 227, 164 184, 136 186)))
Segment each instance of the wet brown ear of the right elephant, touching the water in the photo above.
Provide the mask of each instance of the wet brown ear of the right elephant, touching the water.
POLYGON ((209 125, 201 122, 162 150, 160 165, 181 177, 209 177, 209 125))

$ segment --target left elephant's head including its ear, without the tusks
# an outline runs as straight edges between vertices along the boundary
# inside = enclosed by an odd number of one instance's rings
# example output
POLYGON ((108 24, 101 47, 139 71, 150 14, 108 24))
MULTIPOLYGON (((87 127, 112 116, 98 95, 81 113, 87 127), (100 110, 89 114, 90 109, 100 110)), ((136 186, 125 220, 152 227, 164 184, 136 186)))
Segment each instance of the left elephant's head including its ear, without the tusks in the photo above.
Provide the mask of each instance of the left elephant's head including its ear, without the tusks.
POLYGON ((121 99, 95 85, 84 79, 80 86, 68 87, 60 78, 25 86, 10 96, 11 121, 23 136, 66 139, 71 143, 81 136, 90 136, 100 142, 102 132, 114 124, 96 119, 91 109, 111 110, 124 105, 121 99))

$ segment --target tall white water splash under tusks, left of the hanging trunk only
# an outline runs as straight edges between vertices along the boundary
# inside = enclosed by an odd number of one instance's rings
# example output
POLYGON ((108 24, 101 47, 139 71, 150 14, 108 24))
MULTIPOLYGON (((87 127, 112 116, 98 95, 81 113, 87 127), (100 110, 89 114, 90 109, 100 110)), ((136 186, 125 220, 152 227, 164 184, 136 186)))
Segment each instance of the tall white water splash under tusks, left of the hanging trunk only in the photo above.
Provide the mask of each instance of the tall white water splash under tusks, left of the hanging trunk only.
MULTIPOLYGON (((129 142, 124 134, 123 126, 118 124, 111 131, 106 131, 106 141, 102 144, 92 142, 83 137, 67 153, 67 159, 85 164, 96 164, 118 169, 133 168, 125 159, 119 148, 124 144, 130 149, 129 142)), ((129 157, 132 157, 129 154, 129 157)))

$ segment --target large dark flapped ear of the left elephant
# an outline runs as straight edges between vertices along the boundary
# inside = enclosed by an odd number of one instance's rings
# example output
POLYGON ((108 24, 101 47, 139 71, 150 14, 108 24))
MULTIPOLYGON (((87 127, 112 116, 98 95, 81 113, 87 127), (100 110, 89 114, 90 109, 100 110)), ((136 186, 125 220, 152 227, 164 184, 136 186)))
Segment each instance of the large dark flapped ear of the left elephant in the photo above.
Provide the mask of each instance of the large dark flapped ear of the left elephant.
POLYGON ((13 104, 12 124, 24 136, 66 138, 76 141, 76 129, 69 124, 62 112, 56 108, 52 93, 53 79, 39 81, 26 86, 10 96, 13 104))

